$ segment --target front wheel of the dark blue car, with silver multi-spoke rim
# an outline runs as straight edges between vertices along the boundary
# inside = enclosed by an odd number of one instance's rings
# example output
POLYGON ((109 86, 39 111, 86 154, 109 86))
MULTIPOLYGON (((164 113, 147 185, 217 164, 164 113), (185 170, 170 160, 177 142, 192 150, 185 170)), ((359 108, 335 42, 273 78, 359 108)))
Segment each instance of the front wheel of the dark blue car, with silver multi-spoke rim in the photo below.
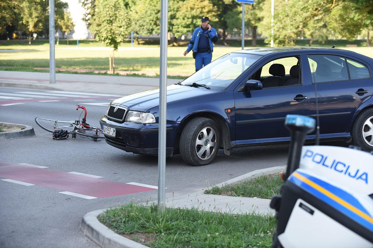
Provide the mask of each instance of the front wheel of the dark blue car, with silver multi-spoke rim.
POLYGON ((180 137, 179 150, 188 164, 209 164, 219 150, 220 133, 216 122, 197 117, 186 124, 180 137))

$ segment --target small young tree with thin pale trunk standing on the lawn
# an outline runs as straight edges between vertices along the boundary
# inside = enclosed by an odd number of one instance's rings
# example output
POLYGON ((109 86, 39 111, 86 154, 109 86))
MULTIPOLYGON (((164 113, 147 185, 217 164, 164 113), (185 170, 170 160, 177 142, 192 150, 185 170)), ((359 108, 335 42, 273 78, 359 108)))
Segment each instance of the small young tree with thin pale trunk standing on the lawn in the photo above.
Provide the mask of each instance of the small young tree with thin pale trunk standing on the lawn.
POLYGON ((98 0, 95 15, 91 20, 91 31, 96 35, 96 39, 113 49, 113 73, 115 73, 114 52, 130 32, 131 20, 128 7, 128 3, 123 0, 98 0))

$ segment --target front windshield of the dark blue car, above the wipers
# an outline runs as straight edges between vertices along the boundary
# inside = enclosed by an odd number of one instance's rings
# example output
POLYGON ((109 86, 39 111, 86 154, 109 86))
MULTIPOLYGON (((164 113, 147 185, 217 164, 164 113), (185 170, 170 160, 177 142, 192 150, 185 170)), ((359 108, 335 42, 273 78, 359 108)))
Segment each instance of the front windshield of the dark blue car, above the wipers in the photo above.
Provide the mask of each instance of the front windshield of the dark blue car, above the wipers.
POLYGON ((194 87, 201 84, 214 90, 223 90, 261 57, 255 54, 226 54, 186 78, 182 84, 194 87))

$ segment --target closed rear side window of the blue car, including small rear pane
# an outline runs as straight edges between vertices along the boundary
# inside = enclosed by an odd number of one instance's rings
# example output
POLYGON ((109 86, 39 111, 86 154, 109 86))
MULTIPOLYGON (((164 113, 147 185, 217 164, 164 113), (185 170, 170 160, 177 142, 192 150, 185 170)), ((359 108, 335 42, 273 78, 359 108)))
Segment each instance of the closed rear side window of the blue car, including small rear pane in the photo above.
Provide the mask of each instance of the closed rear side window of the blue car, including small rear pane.
POLYGON ((345 57, 308 55, 308 62, 313 83, 370 78, 369 70, 365 65, 345 57))

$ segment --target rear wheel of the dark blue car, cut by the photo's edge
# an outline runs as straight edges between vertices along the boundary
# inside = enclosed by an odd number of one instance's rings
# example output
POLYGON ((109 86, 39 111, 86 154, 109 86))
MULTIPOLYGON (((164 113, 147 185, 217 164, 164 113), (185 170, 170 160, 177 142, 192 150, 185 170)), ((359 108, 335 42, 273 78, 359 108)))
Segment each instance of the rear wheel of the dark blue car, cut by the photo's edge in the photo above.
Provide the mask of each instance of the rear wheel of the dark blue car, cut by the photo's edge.
POLYGON ((352 141, 365 151, 373 150, 373 109, 366 109, 357 117, 352 129, 352 141))

